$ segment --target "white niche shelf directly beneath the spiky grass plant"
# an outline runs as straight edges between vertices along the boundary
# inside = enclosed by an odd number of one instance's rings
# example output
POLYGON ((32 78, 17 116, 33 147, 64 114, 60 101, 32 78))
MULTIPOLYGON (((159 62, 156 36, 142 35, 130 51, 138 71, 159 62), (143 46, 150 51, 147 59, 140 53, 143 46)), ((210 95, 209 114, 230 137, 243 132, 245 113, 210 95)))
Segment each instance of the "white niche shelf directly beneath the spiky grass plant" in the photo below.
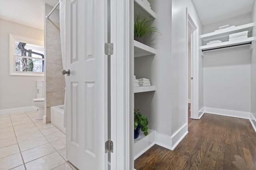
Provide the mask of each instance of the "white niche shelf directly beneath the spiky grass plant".
POLYGON ((156 54, 156 49, 134 40, 134 57, 156 54))

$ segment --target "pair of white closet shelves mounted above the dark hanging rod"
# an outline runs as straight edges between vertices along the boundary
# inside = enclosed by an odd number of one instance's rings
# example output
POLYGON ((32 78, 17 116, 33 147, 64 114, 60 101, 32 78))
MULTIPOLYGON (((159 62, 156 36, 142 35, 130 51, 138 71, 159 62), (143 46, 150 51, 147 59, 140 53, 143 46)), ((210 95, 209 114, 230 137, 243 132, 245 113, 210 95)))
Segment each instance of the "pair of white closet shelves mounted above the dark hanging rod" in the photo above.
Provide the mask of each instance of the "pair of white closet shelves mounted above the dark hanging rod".
MULTIPOLYGON (((242 31, 250 32, 252 30, 253 26, 254 26, 254 23, 248 23, 245 25, 237 26, 237 27, 221 29, 218 31, 214 31, 212 33, 207 33, 207 34, 201 35, 200 38, 204 42, 210 41, 210 40, 216 40, 216 39, 220 39, 220 38, 225 38, 225 37, 229 37, 229 35, 232 33, 238 33, 238 32, 242 32, 242 31)), ((211 50, 211 49, 222 49, 225 47, 236 47, 236 46, 240 46, 240 45, 251 45, 251 42, 253 42, 254 40, 255 40, 255 37, 248 37, 248 38, 243 38, 243 39, 237 39, 235 41, 224 41, 222 43, 202 45, 199 47, 199 49, 204 51, 204 50, 211 50)))

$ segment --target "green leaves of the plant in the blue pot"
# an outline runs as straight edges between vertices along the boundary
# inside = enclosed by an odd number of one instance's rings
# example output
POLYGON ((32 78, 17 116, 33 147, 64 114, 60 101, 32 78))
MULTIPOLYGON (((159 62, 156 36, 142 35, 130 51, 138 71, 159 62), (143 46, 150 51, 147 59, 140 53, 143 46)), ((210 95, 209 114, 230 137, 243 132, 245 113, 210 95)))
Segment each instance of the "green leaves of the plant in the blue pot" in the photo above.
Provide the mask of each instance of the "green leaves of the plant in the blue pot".
POLYGON ((148 135, 148 118, 140 113, 139 109, 134 109, 134 129, 140 126, 141 131, 144 135, 148 135))

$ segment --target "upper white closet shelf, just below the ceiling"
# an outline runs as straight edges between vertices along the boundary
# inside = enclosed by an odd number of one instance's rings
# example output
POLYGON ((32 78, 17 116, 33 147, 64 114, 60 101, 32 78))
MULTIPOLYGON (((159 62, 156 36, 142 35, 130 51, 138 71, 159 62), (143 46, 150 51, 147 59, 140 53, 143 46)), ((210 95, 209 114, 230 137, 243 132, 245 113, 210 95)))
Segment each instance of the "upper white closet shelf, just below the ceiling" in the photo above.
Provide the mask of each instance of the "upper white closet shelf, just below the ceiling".
POLYGON ((213 39, 228 37, 232 33, 238 33, 238 32, 242 32, 242 31, 250 32, 252 30, 253 26, 254 26, 254 23, 248 23, 248 24, 245 24, 245 25, 237 26, 237 27, 221 29, 220 31, 215 31, 215 32, 212 32, 212 33, 203 34, 203 35, 200 36, 200 38, 203 41, 210 41, 210 40, 213 40, 213 39))

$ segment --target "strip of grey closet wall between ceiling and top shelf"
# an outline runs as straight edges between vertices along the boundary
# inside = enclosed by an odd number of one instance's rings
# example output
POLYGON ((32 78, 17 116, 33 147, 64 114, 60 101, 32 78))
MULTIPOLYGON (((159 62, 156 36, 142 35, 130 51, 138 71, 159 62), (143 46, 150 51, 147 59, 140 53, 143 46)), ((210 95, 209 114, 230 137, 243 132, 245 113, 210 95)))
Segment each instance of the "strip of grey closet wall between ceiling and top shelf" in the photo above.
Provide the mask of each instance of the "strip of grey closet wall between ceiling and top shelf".
POLYGON ((227 20, 222 20, 222 21, 218 21, 218 22, 214 22, 214 23, 210 23, 208 25, 204 25, 204 34, 205 33, 210 33, 210 32, 214 32, 216 29, 219 29, 220 26, 222 25, 227 25, 229 24, 230 26, 235 25, 235 26, 239 26, 239 25, 243 25, 246 23, 250 23, 252 21, 251 19, 251 14, 244 14, 241 16, 236 16, 233 18, 229 18, 227 20))

